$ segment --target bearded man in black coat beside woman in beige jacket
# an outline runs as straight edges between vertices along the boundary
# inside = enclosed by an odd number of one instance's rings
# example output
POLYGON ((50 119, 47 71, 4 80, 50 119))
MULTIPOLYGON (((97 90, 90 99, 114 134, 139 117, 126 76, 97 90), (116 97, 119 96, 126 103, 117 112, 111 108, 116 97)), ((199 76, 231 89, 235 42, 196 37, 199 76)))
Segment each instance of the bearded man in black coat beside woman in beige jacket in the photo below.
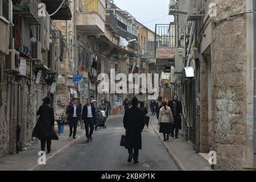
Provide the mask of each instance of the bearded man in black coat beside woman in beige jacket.
POLYGON ((168 106, 172 110, 172 115, 174 116, 174 123, 172 124, 172 138, 174 137, 175 130, 175 138, 179 138, 179 130, 181 130, 181 116, 182 116, 182 105, 181 102, 178 101, 178 96, 174 96, 173 101, 169 101, 168 106))

